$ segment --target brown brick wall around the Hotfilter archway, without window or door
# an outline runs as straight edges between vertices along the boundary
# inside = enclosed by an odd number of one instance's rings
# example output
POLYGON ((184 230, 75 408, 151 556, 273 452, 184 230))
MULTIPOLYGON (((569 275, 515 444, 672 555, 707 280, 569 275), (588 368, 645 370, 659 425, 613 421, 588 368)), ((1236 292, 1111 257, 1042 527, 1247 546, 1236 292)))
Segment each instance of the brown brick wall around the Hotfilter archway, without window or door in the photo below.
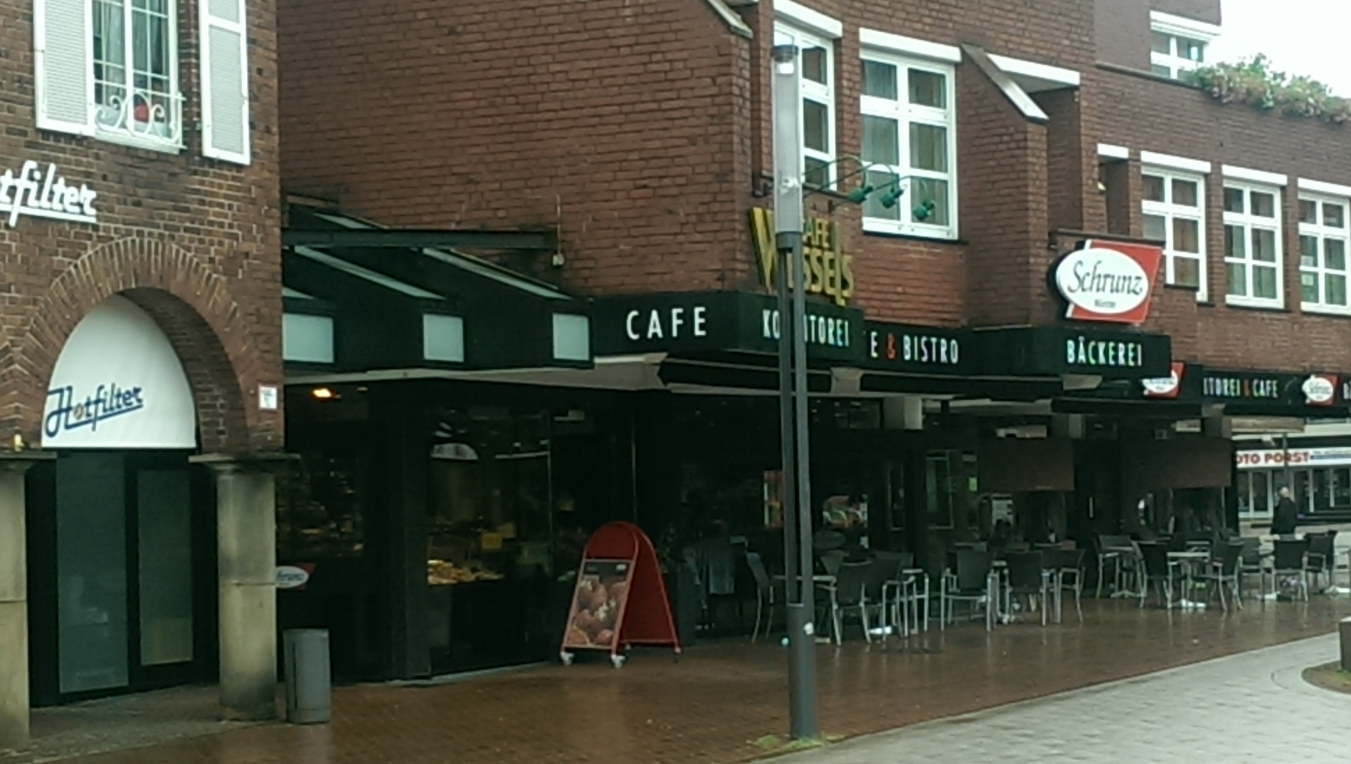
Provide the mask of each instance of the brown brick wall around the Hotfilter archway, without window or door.
POLYGON ((123 292, 184 360, 204 450, 278 450, 281 412, 257 410, 281 383, 281 262, 276 32, 272 3, 250 0, 253 164, 201 156, 197 4, 178 4, 186 149, 168 154, 36 128, 32 4, 0 0, 0 170, 55 162, 99 192, 97 224, 20 218, 0 224, 0 437, 38 441, 47 380, 66 337, 123 292))

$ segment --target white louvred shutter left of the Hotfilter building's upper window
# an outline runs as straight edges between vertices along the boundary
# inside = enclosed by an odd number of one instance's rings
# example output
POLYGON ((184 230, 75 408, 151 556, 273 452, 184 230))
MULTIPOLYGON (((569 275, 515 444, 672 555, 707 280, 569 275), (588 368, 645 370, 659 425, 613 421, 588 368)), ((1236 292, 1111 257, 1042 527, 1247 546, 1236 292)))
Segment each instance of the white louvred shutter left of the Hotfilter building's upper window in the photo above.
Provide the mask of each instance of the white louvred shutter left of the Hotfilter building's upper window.
POLYGON ((34 0, 38 127, 93 135, 93 3, 34 0))

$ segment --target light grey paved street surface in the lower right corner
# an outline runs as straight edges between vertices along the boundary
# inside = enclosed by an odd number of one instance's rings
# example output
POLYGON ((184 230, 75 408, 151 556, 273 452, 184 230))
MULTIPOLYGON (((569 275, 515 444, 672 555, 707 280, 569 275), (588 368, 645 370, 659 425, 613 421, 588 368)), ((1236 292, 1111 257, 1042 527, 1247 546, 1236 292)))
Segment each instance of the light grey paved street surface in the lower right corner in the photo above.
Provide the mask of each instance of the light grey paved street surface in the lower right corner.
POLYGON ((1333 764, 1351 757, 1351 695, 1301 672, 1336 636, 1210 660, 857 738, 781 764, 1333 764))

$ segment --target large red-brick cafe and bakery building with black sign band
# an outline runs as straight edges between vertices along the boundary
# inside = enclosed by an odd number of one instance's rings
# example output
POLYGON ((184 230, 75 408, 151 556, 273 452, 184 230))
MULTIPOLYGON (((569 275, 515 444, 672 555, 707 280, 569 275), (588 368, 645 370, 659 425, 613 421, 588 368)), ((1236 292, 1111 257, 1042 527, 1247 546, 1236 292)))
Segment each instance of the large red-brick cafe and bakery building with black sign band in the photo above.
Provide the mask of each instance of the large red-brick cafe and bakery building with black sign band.
MULTIPOLYGON (((1012 495, 1028 530, 1082 544, 1169 526, 1183 504, 1227 507, 1236 525, 1233 427, 1351 404, 1351 387, 1320 392, 1351 369, 1336 256, 1351 143, 1342 126, 1221 105, 1182 84, 1220 23, 1219 0, 396 0, 378 12, 282 0, 282 185, 307 220, 296 233, 328 241, 299 230, 315 219, 388 227, 393 239, 411 229, 407 242, 428 230, 557 233, 554 250, 476 254, 589 299, 592 356, 605 357, 566 375, 484 376, 467 356, 327 376, 307 366, 292 402, 307 406, 323 453, 326 404, 308 400, 309 385, 349 384, 315 387, 323 400, 378 398, 394 377, 434 380, 417 391, 431 400, 454 399, 465 380, 492 388, 470 398, 603 389, 632 416, 616 435, 631 460, 617 472, 632 477, 613 491, 628 494, 609 504, 616 517, 657 535, 712 481, 686 477, 731 464, 751 476, 739 490, 755 492, 746 485, 778 464, 774 412, 750 414, 773 388, 777 314, 753 219, 773 204, 770 51, 793 45, 802 173, 834 191, 807 197, 811 246, 838 243, 819 281, 852 285, 851 299, 812 303, 813 326, 828 327, 813 339, 828 346, 813 346, 813 426, 831 444, 813 452, 813 485, 862 495, 862 514, 871 496, 894 523, 867 531, 874 548, 931 560, 977 526, 989 533, 992 494, 1012 495), (865 184, 871 193, 848 200, 865 184), (1240 192, 1243 210, 1225 214, 1240 192), (1138 326, 1065 315, 1050 274, 1085 241, 1163 245, 1138 326), (1310 246, 1317 257, 1301 262, 1310 246), (847 274, 832 270, 843 260, 847 274), (1304 306, 1305 292, 1324 310, 1304 306), (754 325, 754 337, 694 348, 732 303, 725 323, 754 325), (759 399, 728 395, 744 388, 759 399), (948 517, 934 521, 942 506, 948 517)), ((388 247, 345 254, 334 237, 320 254, 367 280, 405 280, 386 288, 412 293, 431 270, 416 252, 420 265, 388 247)), ((426 412, 409 415, 416 396, 382 395, 411 423, 400 433, 423 427, 426 412)), ((426 522, 427 495, 400 500, 409 514, 399 523, 426 522)), ((754 530, 773 530, 770 517, 754 530)), ((394 573, 396 602, 427 596, 423 563, 394 573)), ((403 622, 409 610, 394 615, 396 675, 417 673, 404 659, 427 650, 409 637, 420 626, 403 622)))

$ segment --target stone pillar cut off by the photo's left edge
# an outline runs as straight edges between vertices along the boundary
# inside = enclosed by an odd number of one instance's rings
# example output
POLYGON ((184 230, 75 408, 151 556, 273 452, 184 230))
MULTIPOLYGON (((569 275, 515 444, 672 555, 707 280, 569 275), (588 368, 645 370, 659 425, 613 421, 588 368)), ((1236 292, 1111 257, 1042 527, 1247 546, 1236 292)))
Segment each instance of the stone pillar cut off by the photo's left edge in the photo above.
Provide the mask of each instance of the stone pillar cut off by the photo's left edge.
POLYGON ((50 452, 0 454, 0 750, 28 745, 28 561, 23 473, 50 452))

